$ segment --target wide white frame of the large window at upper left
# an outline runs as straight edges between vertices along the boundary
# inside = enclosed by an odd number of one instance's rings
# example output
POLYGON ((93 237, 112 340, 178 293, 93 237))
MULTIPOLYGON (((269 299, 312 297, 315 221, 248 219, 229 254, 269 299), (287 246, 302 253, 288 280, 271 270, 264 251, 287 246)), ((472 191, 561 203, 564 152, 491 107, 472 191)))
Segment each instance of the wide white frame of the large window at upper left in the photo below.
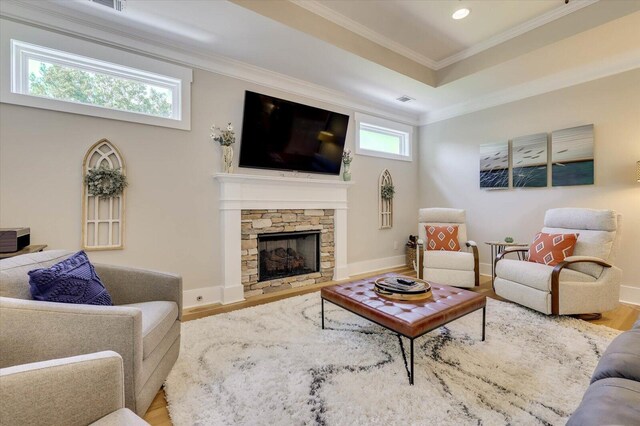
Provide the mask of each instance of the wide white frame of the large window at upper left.
POLYGON ((190 68, 6 20, 2 24, 0 102, 191 129, 193 71, 190 68), (172 97, 172 115, 162 117, 33 95, 29 93, 30 59, 168 89, 172 97))

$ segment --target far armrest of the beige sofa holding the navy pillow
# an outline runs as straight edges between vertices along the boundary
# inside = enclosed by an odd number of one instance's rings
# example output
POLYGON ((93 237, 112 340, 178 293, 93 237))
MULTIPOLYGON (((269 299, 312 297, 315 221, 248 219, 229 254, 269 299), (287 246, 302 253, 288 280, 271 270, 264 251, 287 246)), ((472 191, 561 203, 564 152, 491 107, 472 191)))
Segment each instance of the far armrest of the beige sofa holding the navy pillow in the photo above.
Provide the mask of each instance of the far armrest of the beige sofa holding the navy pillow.
POLYGON ((182 319, 182 278, 179 275, 126 266, 94 266, 114 305, 166 300, 178 305, 178 319, 182 319))

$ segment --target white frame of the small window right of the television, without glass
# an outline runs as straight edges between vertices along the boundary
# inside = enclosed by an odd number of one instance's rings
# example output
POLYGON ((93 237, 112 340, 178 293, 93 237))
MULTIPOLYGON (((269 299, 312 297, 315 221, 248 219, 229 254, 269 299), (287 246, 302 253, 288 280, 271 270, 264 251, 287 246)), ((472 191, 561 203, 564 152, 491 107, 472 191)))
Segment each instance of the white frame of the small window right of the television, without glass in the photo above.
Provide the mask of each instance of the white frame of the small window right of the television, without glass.
POLYGON ((371 157, 388 158, 391 160, 413 161, 413 126, 374 117, 367 114, 355 113, 356 120, 356 154, 371 157), (368 130, 376 133, 398 136, 400 138, 400 154, 374 151, 360 146, 360 131, 368 130))

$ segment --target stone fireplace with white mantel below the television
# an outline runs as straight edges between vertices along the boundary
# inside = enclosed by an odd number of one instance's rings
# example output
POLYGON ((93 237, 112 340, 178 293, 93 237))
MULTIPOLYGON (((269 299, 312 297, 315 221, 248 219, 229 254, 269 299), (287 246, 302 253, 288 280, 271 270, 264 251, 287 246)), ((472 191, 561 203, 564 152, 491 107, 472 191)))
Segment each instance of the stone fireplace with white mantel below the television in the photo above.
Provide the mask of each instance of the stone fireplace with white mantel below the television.
POLYGON ((220 183, 222 283, 218 288, 223 304, 349 278, 347 191, 353 182, 227 173, 214 177, 220 183), (316 253, 299 242, 272 244, 296 234, 305 239, 316 235, 316 253), (259 247, 259 241, 264 246, 259 247), (314 257, 317 264, 311 268, 309 261, 314 257), (261 264, 265 268, 268 264, 275 276, 264 279, 261 264))

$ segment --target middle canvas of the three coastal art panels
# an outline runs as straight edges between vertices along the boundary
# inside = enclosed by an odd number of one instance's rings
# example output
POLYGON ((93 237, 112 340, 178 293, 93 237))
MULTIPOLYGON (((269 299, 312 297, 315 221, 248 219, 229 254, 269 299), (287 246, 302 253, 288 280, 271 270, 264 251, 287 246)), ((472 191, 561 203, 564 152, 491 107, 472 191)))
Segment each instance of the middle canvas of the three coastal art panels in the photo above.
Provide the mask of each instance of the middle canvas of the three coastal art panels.
POLYGON ((520 136, 511 142, 514 188, 547 186, 547 134, 520 136))

